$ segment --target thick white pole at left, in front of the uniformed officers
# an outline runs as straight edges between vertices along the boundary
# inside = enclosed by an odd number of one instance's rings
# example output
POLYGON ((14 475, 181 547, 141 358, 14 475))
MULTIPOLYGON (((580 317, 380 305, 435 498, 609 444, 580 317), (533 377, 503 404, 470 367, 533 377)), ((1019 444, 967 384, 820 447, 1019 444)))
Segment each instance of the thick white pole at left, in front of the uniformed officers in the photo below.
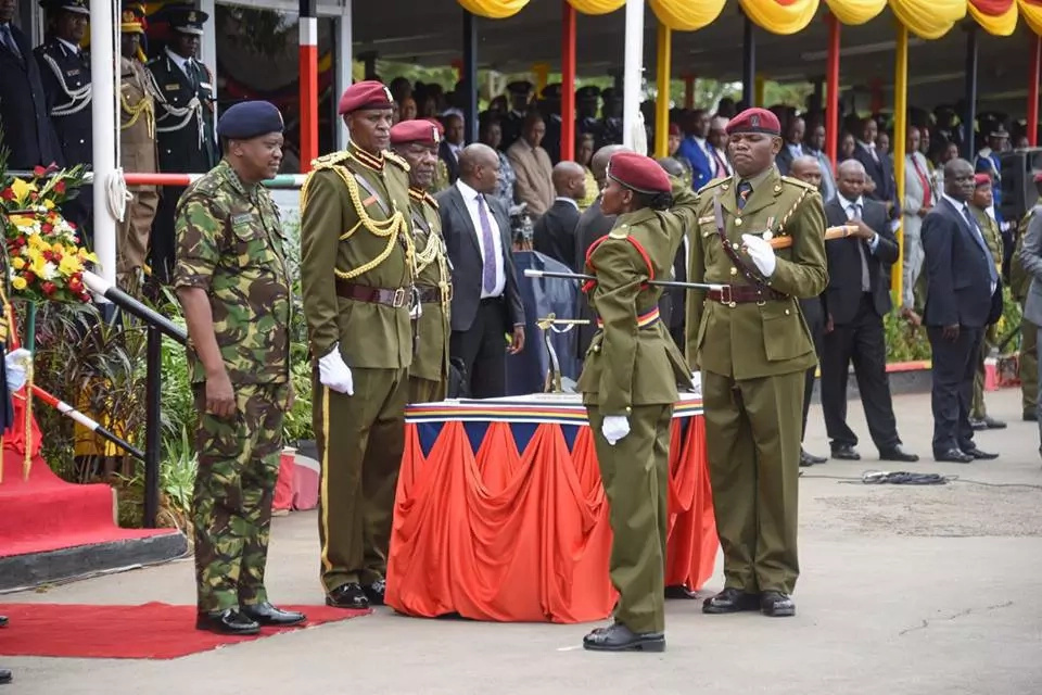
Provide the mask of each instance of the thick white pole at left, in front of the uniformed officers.
POLYGON ((112 0, 90 0, 90 103, 93 130, 94 253, 101 276, 116 281, 116 218, 109 210, 109 184, 116 168, 116 80, 119 64, 113 39, 112 0))

